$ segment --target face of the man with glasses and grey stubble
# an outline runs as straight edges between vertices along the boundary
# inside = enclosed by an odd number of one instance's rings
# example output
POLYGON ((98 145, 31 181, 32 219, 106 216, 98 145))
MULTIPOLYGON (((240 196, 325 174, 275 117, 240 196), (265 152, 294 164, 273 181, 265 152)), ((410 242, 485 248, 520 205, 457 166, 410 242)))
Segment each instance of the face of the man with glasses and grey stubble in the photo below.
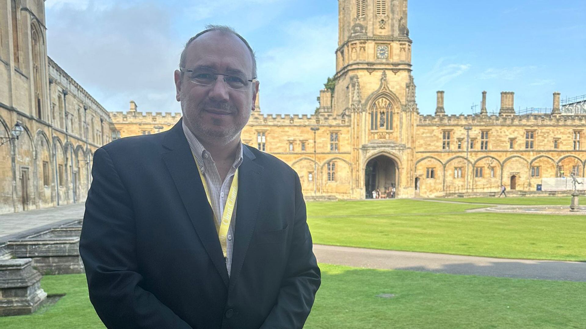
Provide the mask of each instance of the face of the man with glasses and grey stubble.
MULTIPOLYGON (((251 80, 253 61, 250 51, 239 37, 217 31, 199 36, 186 50, 185 68, 206 72, 240 75, 251 80)), ((201 85, 175 71, 177 100, 181 102, 186 126, 200 140, 227 144, 238 138, 250 118, 258 91, 258 81, 245 90, 234 90, 216 76, 213 85, 201 85)))

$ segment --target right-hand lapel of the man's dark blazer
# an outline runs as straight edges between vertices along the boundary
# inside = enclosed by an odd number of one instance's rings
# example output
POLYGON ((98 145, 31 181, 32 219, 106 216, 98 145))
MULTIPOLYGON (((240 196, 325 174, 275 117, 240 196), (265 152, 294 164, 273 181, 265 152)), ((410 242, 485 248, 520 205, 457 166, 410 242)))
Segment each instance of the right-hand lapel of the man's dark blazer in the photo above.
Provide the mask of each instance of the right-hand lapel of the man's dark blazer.
POLYGON ((248 149, 248 146, 243 145, 243 162, 239 167, 234 249, 228 293, 233 289, 240 275, 248 245, 253 236, 258 215, 258 206, 264 188, 264 167, 255 163, 254 159, 255 156, 248 149))

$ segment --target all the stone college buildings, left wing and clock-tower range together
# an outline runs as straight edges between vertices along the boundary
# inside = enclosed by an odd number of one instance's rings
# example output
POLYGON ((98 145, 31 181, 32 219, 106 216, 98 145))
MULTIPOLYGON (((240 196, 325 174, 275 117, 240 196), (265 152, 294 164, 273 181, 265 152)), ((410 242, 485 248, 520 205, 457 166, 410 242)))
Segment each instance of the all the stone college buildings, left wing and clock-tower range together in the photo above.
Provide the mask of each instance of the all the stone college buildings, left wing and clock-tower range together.
MULTIPOLYGON (((46 56, 43 1, 7 0, 0 12, 0 213, 83 201, 96 148, 179 120, 135 102, 106 112, 46 56)), ((438 91, 435 115, 421 115, 407 12, 407 0, 339 0, 336 73, 316 114, 265 115, 257 98, 243 143, 288 163, 315 199, 491 195, 502 185, 528 194, 545 179, 584 177, 586 98, 561 104, 553 92, 550 109, 516 113, 503 91, 489 114, 482 92, 478 114, 447 115, 438 91)))

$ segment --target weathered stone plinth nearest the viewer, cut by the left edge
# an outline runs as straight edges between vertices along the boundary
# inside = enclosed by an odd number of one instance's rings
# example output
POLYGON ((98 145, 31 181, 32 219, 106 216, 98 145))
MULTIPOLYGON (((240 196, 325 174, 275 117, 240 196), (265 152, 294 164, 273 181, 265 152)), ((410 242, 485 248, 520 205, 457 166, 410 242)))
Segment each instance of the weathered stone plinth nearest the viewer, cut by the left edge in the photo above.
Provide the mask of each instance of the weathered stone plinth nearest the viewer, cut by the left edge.
POLYGON ((30 258, 0 261, 0 316, 33 313, 46 300, 42 275, 31 265, 30 258))

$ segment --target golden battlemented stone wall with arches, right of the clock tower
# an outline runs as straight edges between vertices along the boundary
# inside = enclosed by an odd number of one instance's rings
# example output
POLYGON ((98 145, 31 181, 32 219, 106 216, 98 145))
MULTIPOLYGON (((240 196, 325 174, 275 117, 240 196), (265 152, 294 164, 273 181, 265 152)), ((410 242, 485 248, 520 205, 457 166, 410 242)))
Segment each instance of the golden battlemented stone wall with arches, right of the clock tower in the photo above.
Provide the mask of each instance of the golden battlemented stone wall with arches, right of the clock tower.
POLYGON ((500 184, 509 190, 536 190, 544 177, 568 176, 575 167, 583 177, 585 123, 586 117, 578 115, 420 116, 415 175, 422 181, 421 195, 498 191, 500 184), (471 128, 468 155, 466 126, 471 128), (581 140, 574 149, 577 132, 581 140), (444 145, 445 133, 449 146, 444 145), (428 169, 435 170, 435 177, 428 177, 428 169))

